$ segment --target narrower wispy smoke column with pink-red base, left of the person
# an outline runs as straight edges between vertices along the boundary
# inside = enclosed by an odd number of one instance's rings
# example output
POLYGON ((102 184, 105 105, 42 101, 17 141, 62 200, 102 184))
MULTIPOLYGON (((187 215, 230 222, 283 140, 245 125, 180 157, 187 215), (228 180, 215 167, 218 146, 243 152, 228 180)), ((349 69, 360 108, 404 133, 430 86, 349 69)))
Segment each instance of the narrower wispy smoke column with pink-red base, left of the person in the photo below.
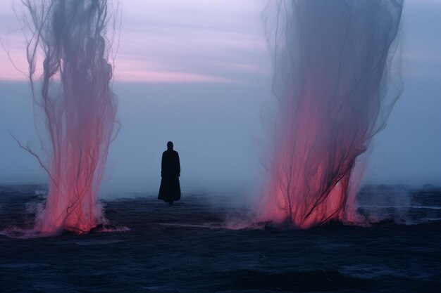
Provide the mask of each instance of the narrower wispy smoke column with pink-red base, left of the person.
POLYGON ((45 167, 49 193, 36 228, 42 233, 87 232, 101 218, 97 193, 116 116, 116 96, 109 88, 107 3, 25 0, 23 4, 34 32, 27 46, 32 91, 44 110, 51 143, 46 146, 45 167), (44 56, 41 97, 33 85, 37 56, 44 56))

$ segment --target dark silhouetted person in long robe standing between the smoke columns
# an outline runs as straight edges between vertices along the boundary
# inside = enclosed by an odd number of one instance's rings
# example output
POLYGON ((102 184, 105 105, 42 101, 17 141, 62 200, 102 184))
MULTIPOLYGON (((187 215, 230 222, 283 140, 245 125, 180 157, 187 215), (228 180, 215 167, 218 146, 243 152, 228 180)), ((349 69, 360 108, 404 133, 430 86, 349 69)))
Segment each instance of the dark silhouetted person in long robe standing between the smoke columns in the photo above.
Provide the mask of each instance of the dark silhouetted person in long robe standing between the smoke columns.
POLYGON ((158 200, 168 202, 170 205, 180 200, 180 162, 179 154, 173 150, 173 143, 167 143, 167 150, 162 153, 161 162, 161 187, 158 200))

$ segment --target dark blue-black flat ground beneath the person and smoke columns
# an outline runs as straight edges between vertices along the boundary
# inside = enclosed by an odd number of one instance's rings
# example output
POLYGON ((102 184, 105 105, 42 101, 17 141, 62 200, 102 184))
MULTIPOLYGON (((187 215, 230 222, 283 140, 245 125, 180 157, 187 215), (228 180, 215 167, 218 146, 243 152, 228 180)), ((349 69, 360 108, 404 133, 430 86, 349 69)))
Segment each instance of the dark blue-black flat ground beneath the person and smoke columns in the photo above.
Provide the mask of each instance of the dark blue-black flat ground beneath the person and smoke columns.
MULTIPOLYGON (((39 189, 0 186, 0 230, 32 227, 39 189)), ((225 219, 244 214, 228 202, 114 200, 106 216, 128 231, 0 235, 0 292, 441 290, 440 189, 367 186, 359 213, 380 221, 371 227, 228 230, 225 219)))

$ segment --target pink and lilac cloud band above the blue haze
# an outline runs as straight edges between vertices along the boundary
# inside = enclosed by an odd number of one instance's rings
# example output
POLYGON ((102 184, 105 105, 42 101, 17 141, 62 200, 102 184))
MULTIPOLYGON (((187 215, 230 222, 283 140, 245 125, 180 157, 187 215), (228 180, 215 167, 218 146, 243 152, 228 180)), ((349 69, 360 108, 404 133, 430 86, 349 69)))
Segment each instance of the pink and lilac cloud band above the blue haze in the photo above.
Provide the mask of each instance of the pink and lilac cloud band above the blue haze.
MULTIPOLYGON (((121 1, 116 82, 246 82, 269 74, 261 22, 263 0, 121 1)), ((0 0, 0 80, 25 80, 25 37, 14 14, 20 2, 0 0), (16 70, 9 60, 18 68, 16 70)))

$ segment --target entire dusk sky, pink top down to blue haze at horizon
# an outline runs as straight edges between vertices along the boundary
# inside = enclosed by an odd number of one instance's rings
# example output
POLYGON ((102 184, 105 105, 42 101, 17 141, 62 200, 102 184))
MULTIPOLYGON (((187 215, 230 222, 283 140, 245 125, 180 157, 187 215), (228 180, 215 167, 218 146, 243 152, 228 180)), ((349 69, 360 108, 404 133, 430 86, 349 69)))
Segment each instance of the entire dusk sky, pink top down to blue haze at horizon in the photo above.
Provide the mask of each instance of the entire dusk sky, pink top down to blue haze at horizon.
MULTIPOLYGON (((175 143, 184 192, 259 190, 274 98, 261 0, 120 1, 113 46, 121 131, 102 193, 154 194, 175 143), (118 45, 118 46, 116 46, 118 45)), ((20 1, 0 0, 0 183, 44 182, 20 1), (15 13, 14 13, 15 11, 15 13)), ((371 148, 364 183, 441 184, 441 0, 406 1, 404 91, 371 148)))

